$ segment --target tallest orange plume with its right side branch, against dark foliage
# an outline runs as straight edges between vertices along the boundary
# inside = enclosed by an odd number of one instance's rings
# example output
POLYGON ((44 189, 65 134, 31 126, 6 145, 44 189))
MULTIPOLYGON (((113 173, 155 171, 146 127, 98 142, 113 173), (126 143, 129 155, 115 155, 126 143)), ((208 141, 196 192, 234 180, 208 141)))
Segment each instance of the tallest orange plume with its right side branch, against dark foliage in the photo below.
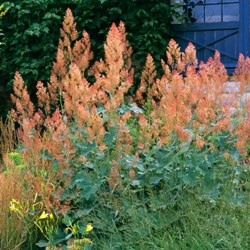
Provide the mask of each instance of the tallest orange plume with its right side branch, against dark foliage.
POLYGON ((65 91, 62 82, 69 73, 71 64, 77 65, 83 75, 93 58, 88 33, 83 31, 82 38, 77 40, 76 23, 70 9, 66 11, 60 34, 57 57, 53 63, 50 83, 48 84, 49 94, 54 105, 58 104, 58 98, 61 98, 62 92, 65 91))

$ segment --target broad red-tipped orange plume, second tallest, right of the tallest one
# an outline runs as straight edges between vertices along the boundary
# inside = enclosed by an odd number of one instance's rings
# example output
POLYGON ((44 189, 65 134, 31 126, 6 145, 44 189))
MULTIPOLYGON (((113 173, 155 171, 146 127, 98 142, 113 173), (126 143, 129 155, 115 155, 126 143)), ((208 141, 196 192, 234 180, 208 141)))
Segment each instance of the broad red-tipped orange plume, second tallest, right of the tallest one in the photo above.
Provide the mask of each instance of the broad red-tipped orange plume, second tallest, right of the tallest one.
POLYGON ((124 24, 112 24, 104 44, 105 60, 96 62, 94 74, 98 100, 107 110, 115 110, 123 102, 124 95, 133 83, 131 48, 126 40, 124 24))

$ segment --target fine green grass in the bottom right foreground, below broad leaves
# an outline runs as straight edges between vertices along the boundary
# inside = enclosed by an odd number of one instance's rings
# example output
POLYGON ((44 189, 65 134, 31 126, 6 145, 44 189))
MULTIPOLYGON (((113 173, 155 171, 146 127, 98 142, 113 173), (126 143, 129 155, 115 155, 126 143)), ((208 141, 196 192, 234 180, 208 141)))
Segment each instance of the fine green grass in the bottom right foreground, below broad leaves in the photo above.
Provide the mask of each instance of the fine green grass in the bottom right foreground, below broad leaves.
MULTIPOLYGON (((149 211, 145 204, 136 207, 130 201, 118 215, 127 220, 125 225, 119 227, 110 218, 108 232, 92 235, 93 249, 249 249, 249 206, 225 200, 214 204, 190 196, 183 196, 175 206, 169 197, 158 202, 163 208, 149 211)), ((100 219, 92 219, 98 227, 100 219)))

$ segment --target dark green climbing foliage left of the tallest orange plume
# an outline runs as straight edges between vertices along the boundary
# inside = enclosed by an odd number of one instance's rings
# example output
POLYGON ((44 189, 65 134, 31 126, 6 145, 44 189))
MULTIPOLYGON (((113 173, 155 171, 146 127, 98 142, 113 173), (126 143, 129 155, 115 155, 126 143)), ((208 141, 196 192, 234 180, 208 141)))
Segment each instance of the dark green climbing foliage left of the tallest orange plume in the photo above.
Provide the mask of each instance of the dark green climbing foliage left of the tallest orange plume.
POLYGON ((32 86, 38 79, 49 78, 63 16, 60 9, 50 9, 49 1, 10 1, 10 10, 2 20, 5 30, 1 61, 1 80, 9 83, 20 70, 32 86))

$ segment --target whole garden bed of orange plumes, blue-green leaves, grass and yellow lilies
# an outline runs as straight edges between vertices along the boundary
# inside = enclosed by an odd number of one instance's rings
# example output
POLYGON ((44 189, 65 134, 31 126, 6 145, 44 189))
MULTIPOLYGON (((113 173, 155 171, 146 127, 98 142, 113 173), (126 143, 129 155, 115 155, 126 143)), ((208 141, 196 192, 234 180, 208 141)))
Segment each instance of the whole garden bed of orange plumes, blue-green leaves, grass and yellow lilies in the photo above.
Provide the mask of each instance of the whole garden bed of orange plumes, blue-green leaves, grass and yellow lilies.
POLYGON ((38 106, 15 74, 0 126, 0 248, 248 249, 249 58, 227 93, 219 52, 198 64, 192 44, 171 40, 162 76, 148 54, 129 95, 124 24, 93 64, 79 37, 68 9, 38 106))

